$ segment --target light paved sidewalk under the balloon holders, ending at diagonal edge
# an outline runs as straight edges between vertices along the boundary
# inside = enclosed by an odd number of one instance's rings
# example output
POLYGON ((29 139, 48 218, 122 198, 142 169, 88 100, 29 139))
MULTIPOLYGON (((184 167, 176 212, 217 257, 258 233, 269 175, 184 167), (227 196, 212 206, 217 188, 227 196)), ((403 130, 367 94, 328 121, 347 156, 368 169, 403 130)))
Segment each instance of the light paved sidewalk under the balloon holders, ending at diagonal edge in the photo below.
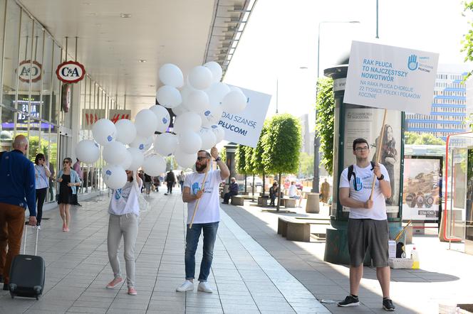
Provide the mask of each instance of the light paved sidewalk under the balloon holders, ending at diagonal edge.
MULTIPOLYGON (((128 296, 126 284, 105 288, 113 274, 106 244, 109 199, 103 195, 71 209, 71 232, 61 231, 58 210, 45 212, 38 245, 46 260, 43 296, 11 299, 0 291, 0 313, 329 313, 224 212, 209 276, 214 293, 197 292, 197 283, 194 291, 175 292, 184 278, 187 207, 180 193, 152 193, 149 200, 135 248, 137 296, 128 296)), ((31 252, 34 232, 28 232, 31 252)))

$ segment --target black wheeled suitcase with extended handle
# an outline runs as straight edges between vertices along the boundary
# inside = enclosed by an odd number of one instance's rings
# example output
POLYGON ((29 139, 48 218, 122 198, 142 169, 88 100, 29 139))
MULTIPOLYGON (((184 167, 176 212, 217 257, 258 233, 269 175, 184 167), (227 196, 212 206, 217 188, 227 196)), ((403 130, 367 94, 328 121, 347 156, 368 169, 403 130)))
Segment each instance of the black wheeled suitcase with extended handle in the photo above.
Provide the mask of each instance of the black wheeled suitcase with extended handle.
POLYGON ((28 225, 25 226, 23 254, 15 256, 11 262, 10 295, 11 298, 26 296, 38 300, 43 293, 46 264, 41 256, 36 256, 38 252, 38 228, 36 228, 34 255, 25 254, 27 229, 28 225))

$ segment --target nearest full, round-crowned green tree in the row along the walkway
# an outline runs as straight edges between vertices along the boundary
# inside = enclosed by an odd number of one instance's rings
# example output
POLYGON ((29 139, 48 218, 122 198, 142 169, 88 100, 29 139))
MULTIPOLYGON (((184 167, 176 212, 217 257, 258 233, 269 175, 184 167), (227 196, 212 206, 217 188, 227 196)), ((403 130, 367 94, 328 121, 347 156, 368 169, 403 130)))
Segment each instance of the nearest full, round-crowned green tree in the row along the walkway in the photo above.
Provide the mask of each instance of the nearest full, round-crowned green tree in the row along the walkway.
MULTIPOLYGON (((291 114, 274 116, 267 124, 268 131, 262 144, 262 161, 266 173, 277 173, 279 186, 283 173, 297 173, 301 153, 301 124, 291 114)), ((280 195, 278 195, 280 196, 280 195)), ((278 197, 277 210, 281 200, 278 197)))

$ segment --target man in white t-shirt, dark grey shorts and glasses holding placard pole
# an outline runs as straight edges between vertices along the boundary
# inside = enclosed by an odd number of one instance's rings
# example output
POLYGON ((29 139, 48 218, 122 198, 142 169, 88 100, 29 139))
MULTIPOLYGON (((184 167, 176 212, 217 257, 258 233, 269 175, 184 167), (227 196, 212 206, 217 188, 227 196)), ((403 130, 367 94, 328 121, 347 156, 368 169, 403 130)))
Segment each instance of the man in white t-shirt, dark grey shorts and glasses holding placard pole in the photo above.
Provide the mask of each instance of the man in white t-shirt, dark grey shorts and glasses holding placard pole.
POLYGON ((350 253, 350 296, 338 306, 360 305, 358 289, 363 277, 363 260, 368 249, 376 267, 376 276, 383 291, 383 308, 395 310, 390 300, 390 268, 388 266, 388 216, 385 198, 391 196, 388 170, 368 158, 370 146, 365 139, 353 141, 356 163, 345 168, 340 176, 341 205, 350 207, 348 217, 348 251, 350 253), (353 171, 350 171, 353 170, 353 171), (350 174, 349 174, 350 173, 350 174), (375 176, 375 190, 370 199, 375 176), (350 176, 350 178, 348 178, 350 176))

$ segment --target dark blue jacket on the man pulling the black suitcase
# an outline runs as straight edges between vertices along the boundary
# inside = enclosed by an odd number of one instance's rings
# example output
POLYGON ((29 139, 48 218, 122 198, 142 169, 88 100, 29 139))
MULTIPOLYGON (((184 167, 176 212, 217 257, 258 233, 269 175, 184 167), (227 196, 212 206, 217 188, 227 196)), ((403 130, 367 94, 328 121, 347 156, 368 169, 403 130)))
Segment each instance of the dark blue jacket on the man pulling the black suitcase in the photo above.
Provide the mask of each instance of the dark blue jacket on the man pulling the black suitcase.
POLYGON ((0 202, 26 208, 36 216, 34 166, 21 151, 3 153, 0 160, 0 202))

